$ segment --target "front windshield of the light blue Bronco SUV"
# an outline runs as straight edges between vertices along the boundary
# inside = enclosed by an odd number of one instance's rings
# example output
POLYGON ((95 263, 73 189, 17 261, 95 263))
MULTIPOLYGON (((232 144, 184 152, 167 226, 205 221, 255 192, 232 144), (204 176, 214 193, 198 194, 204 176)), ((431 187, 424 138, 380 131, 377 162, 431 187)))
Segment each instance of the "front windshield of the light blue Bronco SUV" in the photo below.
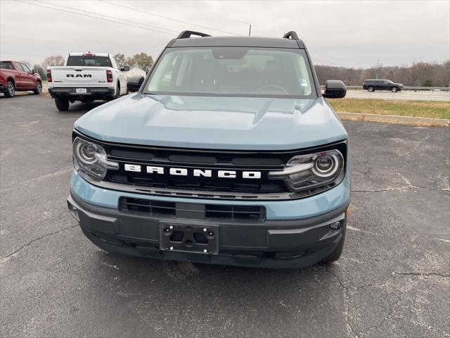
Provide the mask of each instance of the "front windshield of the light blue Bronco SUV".
POLYGON ((315 97, 311 78, 300 49, 169 48, 155 65, 146 92, 315 97))

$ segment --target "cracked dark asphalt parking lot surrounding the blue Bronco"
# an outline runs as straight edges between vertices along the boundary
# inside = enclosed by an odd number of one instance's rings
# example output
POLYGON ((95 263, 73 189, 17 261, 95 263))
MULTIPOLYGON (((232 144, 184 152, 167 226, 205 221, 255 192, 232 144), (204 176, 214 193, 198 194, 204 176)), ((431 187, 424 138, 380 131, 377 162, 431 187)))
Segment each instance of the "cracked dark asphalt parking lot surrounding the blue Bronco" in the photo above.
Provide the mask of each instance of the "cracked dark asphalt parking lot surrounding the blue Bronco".
POLYGON ((92 107, 0 98, 2 337, 450 337, 448 128, 345 123, 343 257, 261 270, 96 249, 65 202, 92 107))

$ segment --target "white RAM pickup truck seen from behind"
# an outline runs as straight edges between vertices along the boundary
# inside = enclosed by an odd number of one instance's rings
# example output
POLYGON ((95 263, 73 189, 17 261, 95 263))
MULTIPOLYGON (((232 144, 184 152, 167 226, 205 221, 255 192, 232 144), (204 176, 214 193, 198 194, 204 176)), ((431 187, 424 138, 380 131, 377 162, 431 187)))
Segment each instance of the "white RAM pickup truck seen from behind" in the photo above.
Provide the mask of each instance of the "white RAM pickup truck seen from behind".
POLYGON ((63 66, 47 68, 49 93, 60 111, 75 101, 110 101, 127 94, 127 70, 110 54, 70 53, 63 66))

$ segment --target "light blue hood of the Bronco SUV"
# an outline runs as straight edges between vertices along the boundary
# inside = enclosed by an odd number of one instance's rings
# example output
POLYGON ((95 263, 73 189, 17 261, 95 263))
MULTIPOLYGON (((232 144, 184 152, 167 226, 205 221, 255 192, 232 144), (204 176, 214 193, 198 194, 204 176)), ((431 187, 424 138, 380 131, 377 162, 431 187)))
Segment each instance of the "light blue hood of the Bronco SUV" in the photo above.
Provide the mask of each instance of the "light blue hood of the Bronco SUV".
POLYGON ((105 142, 197 149, 291 150, 347 139, 322 97, 135 93, 92 109, 75 129, 105 142))

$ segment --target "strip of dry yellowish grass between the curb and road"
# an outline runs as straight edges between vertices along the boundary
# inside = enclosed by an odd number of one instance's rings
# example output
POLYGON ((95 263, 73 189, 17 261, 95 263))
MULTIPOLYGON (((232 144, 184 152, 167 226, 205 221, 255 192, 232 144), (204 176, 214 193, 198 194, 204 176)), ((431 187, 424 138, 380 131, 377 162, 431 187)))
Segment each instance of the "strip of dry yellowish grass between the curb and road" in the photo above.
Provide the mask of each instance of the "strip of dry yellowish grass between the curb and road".
POLYGON ((378 99, 328 100, 335 111, 450 119, 450 102, 378 99))

